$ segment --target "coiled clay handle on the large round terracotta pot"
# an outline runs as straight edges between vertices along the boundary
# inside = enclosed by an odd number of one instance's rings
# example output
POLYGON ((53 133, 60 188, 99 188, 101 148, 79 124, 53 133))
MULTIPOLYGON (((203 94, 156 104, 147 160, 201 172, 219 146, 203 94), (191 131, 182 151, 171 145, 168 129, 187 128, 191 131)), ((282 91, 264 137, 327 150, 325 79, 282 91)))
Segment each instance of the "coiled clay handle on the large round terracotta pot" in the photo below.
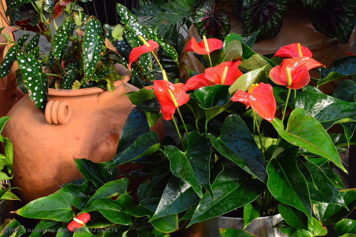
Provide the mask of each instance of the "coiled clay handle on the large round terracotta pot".
POLYGON ((72 107, 67 101, 48 101, 45 117, 49 124, 66 124, 72 117, 72 107))

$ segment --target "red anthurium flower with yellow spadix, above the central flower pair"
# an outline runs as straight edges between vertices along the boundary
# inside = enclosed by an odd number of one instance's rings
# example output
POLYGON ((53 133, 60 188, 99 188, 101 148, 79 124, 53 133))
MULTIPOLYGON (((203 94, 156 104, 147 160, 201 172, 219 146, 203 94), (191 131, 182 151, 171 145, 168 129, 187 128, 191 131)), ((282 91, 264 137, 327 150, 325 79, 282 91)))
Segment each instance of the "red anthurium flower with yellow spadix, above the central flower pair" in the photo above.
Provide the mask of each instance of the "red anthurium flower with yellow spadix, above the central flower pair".
POLYGON ((220 39, 207 39, 203 36, 203 41, 197 43, 195 38, 193 37, 187 44, 187 48, 185 48, 184 53, 188 51, 194 51, 197 54, 209 54, 216 49, 221 49, 223 47, 223 41, 220 39))

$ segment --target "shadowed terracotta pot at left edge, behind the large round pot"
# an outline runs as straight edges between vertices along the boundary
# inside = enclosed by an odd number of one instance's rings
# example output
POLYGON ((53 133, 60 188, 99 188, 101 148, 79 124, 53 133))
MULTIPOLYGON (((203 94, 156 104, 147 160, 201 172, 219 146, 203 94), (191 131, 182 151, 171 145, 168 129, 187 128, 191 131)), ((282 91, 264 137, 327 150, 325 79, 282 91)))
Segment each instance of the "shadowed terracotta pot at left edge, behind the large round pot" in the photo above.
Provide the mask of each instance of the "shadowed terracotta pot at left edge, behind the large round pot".
MULTIPOLYGON (((6 43, 7 39, 0 36, 0 43, 6 43)), ((0 62, 4 58, 4 50, 7 44, 0 44, 0 62)), ((23 92, 16 86, 16 75, 13 69, 9 74, 0 79, 0 117, 9 112, 11 107, 23 97, 23 92)), ((0 147, 1 150, 1 147, 0 147)))

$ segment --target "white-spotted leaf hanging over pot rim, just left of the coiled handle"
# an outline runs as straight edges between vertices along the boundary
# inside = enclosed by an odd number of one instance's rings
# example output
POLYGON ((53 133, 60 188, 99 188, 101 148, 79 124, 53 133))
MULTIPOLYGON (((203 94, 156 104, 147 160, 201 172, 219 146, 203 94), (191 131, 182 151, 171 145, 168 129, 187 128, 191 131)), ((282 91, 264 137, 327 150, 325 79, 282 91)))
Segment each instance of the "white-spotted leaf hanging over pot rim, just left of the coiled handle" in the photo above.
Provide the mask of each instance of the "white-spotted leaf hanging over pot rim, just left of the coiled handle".
POLYGON ((30 54, 17 50, 23 84, 25 84, 31 100, 36 107, 45 112, 48 96, 48 76, 42 72, 41 64, 30 54))

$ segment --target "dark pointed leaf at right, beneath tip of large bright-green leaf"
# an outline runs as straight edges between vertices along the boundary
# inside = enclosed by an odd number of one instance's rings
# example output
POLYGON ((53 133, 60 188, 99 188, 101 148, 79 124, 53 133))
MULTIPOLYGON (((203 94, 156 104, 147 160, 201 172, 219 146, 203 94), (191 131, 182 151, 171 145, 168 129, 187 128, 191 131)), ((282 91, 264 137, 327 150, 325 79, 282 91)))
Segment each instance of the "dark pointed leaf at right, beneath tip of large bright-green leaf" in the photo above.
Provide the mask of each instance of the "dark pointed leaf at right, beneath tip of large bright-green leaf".
POLYGON ((323 170, 308 160, 304 160, 303 162, 309 169, 316 185, 316 188, 309 187, 310 199, 321 203, 338 204, 346 207, 339 190, 331 183, 323 170))

